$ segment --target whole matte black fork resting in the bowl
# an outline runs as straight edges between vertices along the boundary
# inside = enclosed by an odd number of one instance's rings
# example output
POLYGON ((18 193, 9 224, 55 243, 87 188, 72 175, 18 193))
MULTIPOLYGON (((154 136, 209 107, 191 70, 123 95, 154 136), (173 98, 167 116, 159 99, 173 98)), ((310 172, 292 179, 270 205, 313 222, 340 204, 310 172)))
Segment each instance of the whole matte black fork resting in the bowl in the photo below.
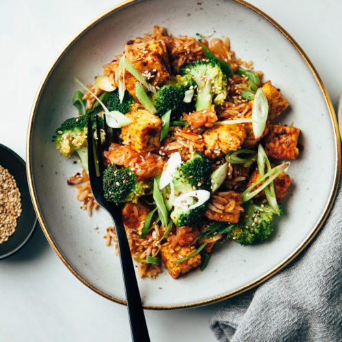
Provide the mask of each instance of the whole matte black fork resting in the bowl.
POLYGON ((129 250, 129 242, 122 223, 121 207, 117 207, 113 203, 109 203, 103 196, 103 170, 105 168, 103 151, 108 147, 109 140, 105 116, 104 128, 106 138, 104 143, 101 142, 101 127, 98 121, 98 116, 96 115, 97 138, 95 140, 93 123, 92 120, 88 118, 88 167, 90 185, 96 202, 98 202, 98 205, 103 207, 103 209, 111 215, 111 219, 113 220, 116 229, 129 321, 131 324, 132 341, 148 342, 150 341, 150 338, 148 337, 146 319, 142 308, 139 287, 137 286, 137 278, 135 277, 131 251, 129 250))

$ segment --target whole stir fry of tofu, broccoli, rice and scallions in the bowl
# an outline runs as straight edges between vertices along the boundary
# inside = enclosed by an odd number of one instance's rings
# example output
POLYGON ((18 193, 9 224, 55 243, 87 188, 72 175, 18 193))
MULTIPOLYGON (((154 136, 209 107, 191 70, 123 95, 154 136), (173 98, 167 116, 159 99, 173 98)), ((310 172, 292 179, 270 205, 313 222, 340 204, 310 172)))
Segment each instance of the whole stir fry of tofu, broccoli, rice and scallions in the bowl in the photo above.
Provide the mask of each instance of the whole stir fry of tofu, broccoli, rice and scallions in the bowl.
MULTIPOLYGON (((278 123, 289 103, 228 38, 175 37, 155 26, 124 44, 93 84, 75 81, 78 116, 53 142, 64 157, 79 156, 83 171, 68 184, 91 215, 88 118, 111 128, 103 192, 122 208, 140 276, 166 268, 176 279, 204 270, 219 241, 229 248, 272 237, 300 129, 278 123)), ((114 227, 105 238, 116 244, 114 227)))

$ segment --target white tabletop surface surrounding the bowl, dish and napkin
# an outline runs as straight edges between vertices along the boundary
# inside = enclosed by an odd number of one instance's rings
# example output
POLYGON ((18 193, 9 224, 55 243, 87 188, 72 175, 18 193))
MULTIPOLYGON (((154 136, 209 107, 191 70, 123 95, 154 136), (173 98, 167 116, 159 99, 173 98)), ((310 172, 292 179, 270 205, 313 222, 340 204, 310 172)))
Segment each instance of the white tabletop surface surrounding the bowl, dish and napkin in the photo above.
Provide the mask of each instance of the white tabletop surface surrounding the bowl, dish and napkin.
MULTIPOLYGON (((0 1, 1 144, 25 157, 29 111, 44 73, 66 42, 117 2, 0 1)), ((336 107, 342 92, 342 1, 250 2, 298 41, 336 107)), ((310 113, 303 115, 310 120, 310 113)), ((208 320, 217 308, 147 311, 151 340, 215 341, 208 320)), ((0 341, 96 340, 130 341, 126 308, 82 285, 38 229, 23 250, 0 261, 0 341)))

